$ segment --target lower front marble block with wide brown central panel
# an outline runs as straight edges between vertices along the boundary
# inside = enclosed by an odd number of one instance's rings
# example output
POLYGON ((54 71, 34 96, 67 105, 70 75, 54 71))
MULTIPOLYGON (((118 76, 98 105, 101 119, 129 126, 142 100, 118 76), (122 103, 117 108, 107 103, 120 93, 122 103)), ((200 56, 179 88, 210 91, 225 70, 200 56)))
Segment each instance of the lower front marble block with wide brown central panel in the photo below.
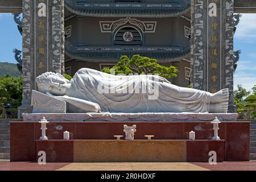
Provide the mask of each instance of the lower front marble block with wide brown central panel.
POLYGON ((224 140, 36 140, 47 162, 208 162, 213 150, 223 162, 224 140))

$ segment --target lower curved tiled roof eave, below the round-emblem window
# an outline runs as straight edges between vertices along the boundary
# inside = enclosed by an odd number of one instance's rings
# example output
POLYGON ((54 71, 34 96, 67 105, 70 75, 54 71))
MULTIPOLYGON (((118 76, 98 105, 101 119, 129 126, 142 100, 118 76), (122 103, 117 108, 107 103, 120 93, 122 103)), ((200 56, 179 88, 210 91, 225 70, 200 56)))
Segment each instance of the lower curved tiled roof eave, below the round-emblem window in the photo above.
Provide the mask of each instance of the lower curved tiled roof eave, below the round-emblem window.
POLYGON ((65 54, 72 59, 96 63, 116 63, 119 57, 141 55, 157 59, 159 63, 180 61, 190 56, 190 49, 180 47, 90 47, 72 46, 65 41, 65 54))

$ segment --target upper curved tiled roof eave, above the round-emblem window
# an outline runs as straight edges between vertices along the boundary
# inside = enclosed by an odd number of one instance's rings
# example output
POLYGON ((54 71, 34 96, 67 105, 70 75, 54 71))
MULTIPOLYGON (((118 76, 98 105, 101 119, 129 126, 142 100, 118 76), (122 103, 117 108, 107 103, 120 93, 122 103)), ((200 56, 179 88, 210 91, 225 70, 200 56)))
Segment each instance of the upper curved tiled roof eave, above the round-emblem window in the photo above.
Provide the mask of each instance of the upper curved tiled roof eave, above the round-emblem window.
POLYGON ((76 3, 73 0, 65 0, 65 8, 71 13, 81 16, 167 18, 180 17, 188 13, 191 10, 191 2, 187 1, 185 5, 140 3, 134 7, 132 4, 124 6, 123 3, 76 3))

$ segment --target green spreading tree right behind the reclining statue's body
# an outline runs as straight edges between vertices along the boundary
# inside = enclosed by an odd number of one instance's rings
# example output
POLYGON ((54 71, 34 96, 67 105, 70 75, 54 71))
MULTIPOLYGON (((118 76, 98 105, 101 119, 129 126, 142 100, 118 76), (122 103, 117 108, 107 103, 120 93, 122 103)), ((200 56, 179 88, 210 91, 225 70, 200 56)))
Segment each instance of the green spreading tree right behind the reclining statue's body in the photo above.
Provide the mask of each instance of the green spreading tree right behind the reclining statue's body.
MULTIPOLYGON (((164 78, 174 78, 179 72, 177 67, 170 66, 164 67, 163 65, 158 64, 156 59, 151 59, 149 57, 144 57, 140 55, 134 55, 131 59, 128 56, 121 56, 117 65, 111 69, 115 70, 115 75, 120 73, 129 75, 129 74, 158 74, 164 78)), ((103 72, 110 74, 110 69, 105 68, 103 72)))

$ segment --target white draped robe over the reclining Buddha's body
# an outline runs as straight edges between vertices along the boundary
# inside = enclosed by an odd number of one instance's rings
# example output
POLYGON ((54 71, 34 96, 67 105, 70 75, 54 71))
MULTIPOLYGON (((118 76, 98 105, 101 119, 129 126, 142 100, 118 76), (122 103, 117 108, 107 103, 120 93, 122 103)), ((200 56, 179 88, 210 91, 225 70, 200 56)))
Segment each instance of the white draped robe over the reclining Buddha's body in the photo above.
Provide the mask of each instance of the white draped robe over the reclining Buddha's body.
POLYGON ((82 68, 66 95, 95 102, 101 111, 112 113, 205 113, 211 94, 172 85, 158 76, 115 76, 82 68))

